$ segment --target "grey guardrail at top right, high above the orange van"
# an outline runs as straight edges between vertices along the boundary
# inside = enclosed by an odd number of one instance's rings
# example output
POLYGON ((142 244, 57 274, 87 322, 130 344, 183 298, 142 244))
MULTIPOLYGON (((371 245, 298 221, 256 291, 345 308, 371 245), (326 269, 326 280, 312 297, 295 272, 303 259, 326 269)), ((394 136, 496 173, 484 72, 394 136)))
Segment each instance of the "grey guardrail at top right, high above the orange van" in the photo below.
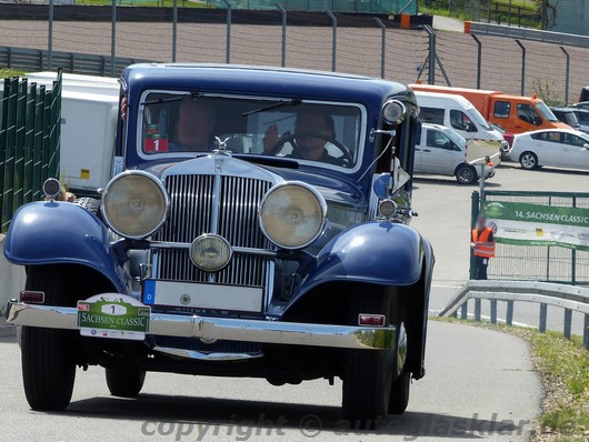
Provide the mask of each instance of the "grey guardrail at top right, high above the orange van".
POLYGON ((589 48, 589 37, 573 33, 540 31, 530 28, 516 28, 505 24, 479 23, 465 21, 465 33, 477 36, 507 37, 515 40, 532 40, 545 43, 589 48))

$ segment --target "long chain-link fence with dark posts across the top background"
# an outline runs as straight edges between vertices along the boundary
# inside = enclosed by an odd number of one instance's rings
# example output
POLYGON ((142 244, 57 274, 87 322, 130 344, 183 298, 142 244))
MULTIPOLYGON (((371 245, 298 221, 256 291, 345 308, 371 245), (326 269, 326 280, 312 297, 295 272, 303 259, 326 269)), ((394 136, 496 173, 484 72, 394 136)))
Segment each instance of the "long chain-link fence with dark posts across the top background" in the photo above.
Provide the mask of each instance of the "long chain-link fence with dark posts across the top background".
MULTIPOLYGON (((47 51, 39 56, 43 69, 76 71, 77 54, 100 57, 93 63, 108 66, 110 76, 119 73, 124 60, 284 66, 406 83, 421 78, 506 93, 536 92, 549 104, 576 101, 587 81, 585 48, 462 32, 430 36, 426 27, 401 29, 386 14, 239 10, 229 1, 226 9, 181 8, 182 3, 2 3, 0 47, 47 51), (67 54, 73 62, 64 61, 67 54), (431 54, 435 63, 429 63, 431 54)), ((14 60, 0 53, 0 63, 18 69, 14 60)), ((100 74, 98 68, 96 72, 100 74)))

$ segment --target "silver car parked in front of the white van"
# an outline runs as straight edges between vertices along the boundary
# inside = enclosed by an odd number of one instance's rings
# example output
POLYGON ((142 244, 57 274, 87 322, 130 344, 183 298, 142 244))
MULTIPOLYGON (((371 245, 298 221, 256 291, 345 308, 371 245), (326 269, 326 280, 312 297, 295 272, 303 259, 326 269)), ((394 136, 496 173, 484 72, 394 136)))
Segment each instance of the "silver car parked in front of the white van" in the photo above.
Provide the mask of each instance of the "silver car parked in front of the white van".
POLYGON ((422 124, 416 145, 416 173, 456 177, 460 184, 475 184, 485 167, 485 177, 495 177, 495 163, 467 162, 468 141, 455 130, 439 124, 422 124))

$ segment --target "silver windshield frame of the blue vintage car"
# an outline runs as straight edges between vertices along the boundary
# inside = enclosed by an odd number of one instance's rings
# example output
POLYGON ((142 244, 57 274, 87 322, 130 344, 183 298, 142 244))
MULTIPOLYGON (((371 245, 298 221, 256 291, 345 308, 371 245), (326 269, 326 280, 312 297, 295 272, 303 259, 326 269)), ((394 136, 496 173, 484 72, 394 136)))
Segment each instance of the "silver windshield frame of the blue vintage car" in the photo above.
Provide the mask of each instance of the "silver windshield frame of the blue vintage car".
MULTIPOLYGON (((177 94, 177 96, 189 96, 189 91, 182 91, 182 90, 169 90, 169 89, 146 89, 141 92, 139 97, 139 109, 137 112, 137 121, 136 121, 136 152, 139 155, 139 158, 146 162, 150 161, 161 161, 161 160, 178 160, 178 159, 193 159, 198 157, 206 157, 213 154, 213 151, 202 151, 202 152, 162 152, 162 153, 146 153, 143 152, 143 117, 144 117, 144 109, 146 109, 146 100, 147 97, 150 93, 168 93, 168 94, 177 94)), ((199 97, 202 98, 213 98, 213 99, 232 99, 232 100, 251 100, 251 101, 261 101, 267 103, 278 103, 280 101, 290 101, 292 100, 291 97, 268 97, 268 96, 248 96, 248 94, 234 94, 234 93, 214 93, 214 92, 201 92, 199 91, 199 97)), ((353 164, 353 168, 343 168, 336 164, 330 164, 327 162, 321 161, 313 161, 313 160, 302 160, 302 159, 294 159, 294 158, 288 158, 289 161, 296 161, 300 165, 309 165, 313 168, 320 168, 320 169, 330 169, 336 170, 338 172, 343 173, 355 173, 358 172, 360 169, 362 169, 362 164, 365 162, 365 154, 366 154, 366 145, 367 145, 367 130, 368 130, 368 110, 366 109, 366 106, 360 102, 349 102, 349 101, 328 101, 328 100, 317 100, 317 99, 306 99, 302 98, 302 103, 305 104, 325 104, 325 106, 338 106, 338 107, 350 107, 356 108, 359 110, 359 118, 360 118, 360 133, 358 137, 358 152, 356 155, 356 162, 353 164)), ((147 104, 149 106, 149 104, 147 104)), ((280 159, 282 157, 277 155, 266 155, 263 153, 260 154, 248 154, 248 153, 234 153, 233 158, 246 158, 244 161, 247 161, 248 157, 252 158, 269 158, 269 159, 280 159)))

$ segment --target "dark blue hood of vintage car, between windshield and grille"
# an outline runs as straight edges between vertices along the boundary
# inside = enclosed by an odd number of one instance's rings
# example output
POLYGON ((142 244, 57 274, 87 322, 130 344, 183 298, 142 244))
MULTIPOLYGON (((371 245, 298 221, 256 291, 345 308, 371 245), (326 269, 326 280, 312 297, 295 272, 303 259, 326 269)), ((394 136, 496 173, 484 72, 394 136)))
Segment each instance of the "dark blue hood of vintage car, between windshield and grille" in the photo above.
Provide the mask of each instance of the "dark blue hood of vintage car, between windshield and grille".
MULTIPOLYGON (((142 170, 152 173, 158 178, 162 178, 166 172, 172 172, 176 169, 181 168, 182 173, 202 173, 202 165, 207 162, 213 161, 214 154, 198 157, 190 160, 171 161, 171 162, 158 162, 156 164, 148 164, 142 170)), ((289 167, 279 165, 266 165, 257 164, 251 161, 246 161, 239 158, 232 158, 222 155, 223 161, 228 161, 236 167, 241 169, 261 169, 266 172, 273 173, 284 181, 302 181, 315 187, 327 201, 332 203, 345 204, 355 209, 365 209, 368 207, 367 198, 365 192, 351 180, 347 179, 345 173, 336 172, 330 169, 322 168, 297 168, 294 161, 289 161, 289 167)), ((213 168, 211 167, 211 173, 213 168)))

